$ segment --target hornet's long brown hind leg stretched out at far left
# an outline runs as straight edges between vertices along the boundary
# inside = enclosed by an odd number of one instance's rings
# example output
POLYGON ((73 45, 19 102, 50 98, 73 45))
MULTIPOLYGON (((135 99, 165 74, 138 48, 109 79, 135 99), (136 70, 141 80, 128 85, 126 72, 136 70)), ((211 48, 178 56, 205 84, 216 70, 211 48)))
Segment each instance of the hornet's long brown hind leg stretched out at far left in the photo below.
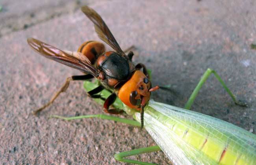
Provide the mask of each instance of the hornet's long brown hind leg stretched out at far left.
POLYGON ((67 90, 67 88, 69 87, 69 82, 70 81, 76 81, 76 80, 88 80, 88 79, 92 79, 93 78, 93 75, 90 75, 90 74, 87 74, 87 75, 74 75, 74 76, 71 76, 71 77, 68 77, 66 79, 66 82, 63 84, 63 86, 61 86, 61 88, 58 90, 58 92, 56 92, 54 94, 54 96, 51 98, 51 100, 46 103, 44 106, 42 106, 41 108, 33 111, 32 113, 34 115, 36 115, 38 112, 40 112, 41 110, 45 109, 47 106, 51 105, 54 100, 59 96, 59 94, 61 92, 65 92, 67 90))

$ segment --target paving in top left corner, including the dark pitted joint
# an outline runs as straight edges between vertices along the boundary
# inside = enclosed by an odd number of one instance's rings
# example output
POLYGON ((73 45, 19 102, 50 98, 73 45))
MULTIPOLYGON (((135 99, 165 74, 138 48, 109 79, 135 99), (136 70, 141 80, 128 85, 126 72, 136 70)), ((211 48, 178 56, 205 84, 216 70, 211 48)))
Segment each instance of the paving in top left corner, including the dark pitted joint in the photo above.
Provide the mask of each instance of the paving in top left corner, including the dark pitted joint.
MULTIPOLYGON (((106 0, 99 0, 104 2, 106 0)), ((20 31, 35 24, 48 21, 63 14, 71 14, 80 6, 92 4, 93 0, 2 0, 0 36, 20 31)))

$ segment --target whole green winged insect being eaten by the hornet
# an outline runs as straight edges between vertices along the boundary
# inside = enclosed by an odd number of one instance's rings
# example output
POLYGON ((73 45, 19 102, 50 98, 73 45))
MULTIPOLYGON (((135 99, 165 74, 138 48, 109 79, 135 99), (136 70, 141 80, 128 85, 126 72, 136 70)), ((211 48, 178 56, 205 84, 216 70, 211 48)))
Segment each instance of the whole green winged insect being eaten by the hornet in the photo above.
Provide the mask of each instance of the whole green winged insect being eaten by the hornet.
MULTIPOLYGON (((226 121, 189 110, 202 84, 211 73, 215 75, 237 105, 247 106, 245 103, 237 101, 214 70, 208 69, 189 97, 184 109, 153 100, 150 100, 145 106, 144 128, 158 146, 121 152, 115 154, 115 159, 126 163, 152 165, 154 163, 125 159, 125 157, 162 150, 173 164, 254 164, 256 162, 256 135, 226 121)), ((98 81, 94 83, 84 82, 86 91, 93 90, 97 86, 98 81)), ((100 92, 101 98, 97 98, 95 101, 103 104, 102 99, 107 98, 110 94, 108 90, 103 90, 100 92)), ((113 106, 123 109, 129 115, 133 115, 136 121, 104 114, 52 117, 65 120, 97 117, 140 127, 140 113, 138 111, 124 105, 118 98, 113 106)))

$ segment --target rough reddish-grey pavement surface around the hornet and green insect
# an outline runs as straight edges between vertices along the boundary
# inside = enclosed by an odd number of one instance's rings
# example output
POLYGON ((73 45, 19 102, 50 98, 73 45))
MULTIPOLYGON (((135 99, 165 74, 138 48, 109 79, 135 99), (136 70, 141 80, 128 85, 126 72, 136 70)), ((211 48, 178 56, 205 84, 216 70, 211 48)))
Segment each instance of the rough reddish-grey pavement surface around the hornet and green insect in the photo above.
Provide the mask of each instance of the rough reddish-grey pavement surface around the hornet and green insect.
MULTIPOLYGON (((235 105, 211 76, 191 110, 256 132, 256 2, 2 0, 0 12, 0 162, 2 164, 125 164, 117 152, 156 145, 145 130, 100 119, 62 121, 52 114, 99 114, 98 106, 72 82, 39 117, 42 106, 64 83, 81 72, 35 53, 26 38, 38 38, 61 49, 76 50, 99 40, 80 11, 87 4, 105 20, 121 48, 135 45, 134 61, 152 70, 153 84, 166 85, 152 98, 182 107, 200 76, 213 68, 234 94, 249 104, 235 105)), ((121 117, 127 117, 122 115, 121 117)), ((171 163, 163 152, 132 157, 171 163)))

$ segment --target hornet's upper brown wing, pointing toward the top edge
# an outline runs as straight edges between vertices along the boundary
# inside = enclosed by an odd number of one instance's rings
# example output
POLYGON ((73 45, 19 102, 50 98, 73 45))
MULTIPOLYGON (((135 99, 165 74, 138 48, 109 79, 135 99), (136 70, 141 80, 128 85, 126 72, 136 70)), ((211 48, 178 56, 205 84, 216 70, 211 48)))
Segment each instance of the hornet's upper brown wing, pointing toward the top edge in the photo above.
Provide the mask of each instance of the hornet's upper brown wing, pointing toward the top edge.
POLYGON ((124 55, 124 52, 120 48, 119 44, 115 40, 114 36, 100 15, 98 15, 95 10, 88 6, 83 6, 81 10, 93 22, 98 37, 100 37, 101 40, 106 42, 109 46, 111 46, 111 48, 117 51, 117 53, 124 55))

